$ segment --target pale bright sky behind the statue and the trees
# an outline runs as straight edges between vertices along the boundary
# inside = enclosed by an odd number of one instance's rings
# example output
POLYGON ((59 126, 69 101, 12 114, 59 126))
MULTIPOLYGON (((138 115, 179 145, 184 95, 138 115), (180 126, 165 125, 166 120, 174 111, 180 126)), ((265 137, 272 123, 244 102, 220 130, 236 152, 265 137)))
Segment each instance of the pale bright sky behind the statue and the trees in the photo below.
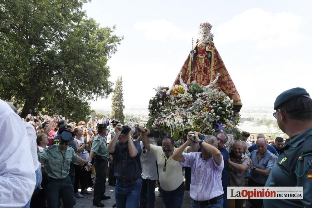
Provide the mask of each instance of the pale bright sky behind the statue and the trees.
MULTIPOLYGON (((244 106, 272 106, 293 87, 312 94, 312 1, 107 1, 84 5, 100 26, 124 36, 108 61, 123 77, 126 109, 147 108, 154 87, 171 87, 198 37, 212 24, 214 43, 244 106)), ((110 109, 107 99, 91 102, 110 109)))

